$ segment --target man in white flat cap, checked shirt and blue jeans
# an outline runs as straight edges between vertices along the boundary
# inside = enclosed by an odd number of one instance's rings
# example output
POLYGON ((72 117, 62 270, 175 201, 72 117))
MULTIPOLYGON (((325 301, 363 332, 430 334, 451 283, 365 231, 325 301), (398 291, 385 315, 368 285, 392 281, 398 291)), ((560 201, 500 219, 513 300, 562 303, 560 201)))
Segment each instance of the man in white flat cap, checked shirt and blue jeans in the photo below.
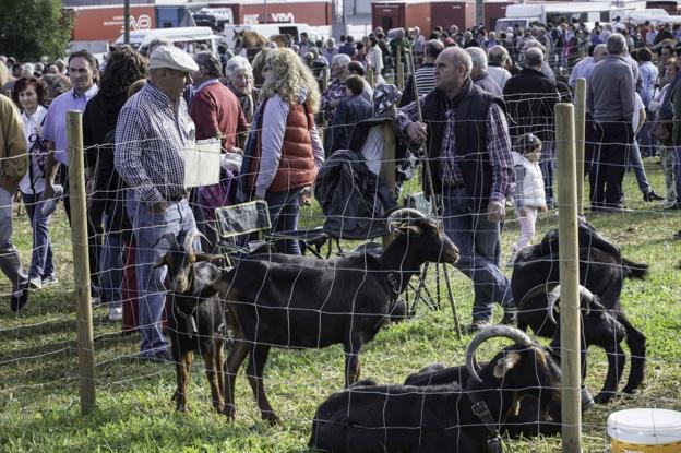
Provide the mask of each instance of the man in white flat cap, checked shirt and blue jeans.
MULTIPOLYGON (((195 127, 182 97, 196 71, 184 51, 157 47, 150 58, 146 85, 126 102, 116 126, 115 165, 128 186, 126 210, 136 240, 142 358, 169 359, 160 325, 166 267, 154 265, 170 247, 164 236, 191 237, 196 231, 184 191, 183 160, 195 127)), ((199 241, 193 246, 200 250, 199 241)))

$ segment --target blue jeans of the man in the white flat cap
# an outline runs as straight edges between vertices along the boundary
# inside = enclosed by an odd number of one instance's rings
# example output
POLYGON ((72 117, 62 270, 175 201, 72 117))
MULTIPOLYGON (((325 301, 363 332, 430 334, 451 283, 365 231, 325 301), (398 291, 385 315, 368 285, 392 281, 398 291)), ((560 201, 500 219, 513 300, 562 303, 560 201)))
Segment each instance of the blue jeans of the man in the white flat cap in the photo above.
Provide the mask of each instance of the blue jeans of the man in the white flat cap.
MULTIPOLYGON (((165 240, 159 240, 166 233, 178 235, 196 230, 194 216, 189 202, 169 202, 168 208, 155 214, 151 207, 135 199, 134 191, 128 190, 126 203, 128 218, 132 223, 136 239, 135 273, 138 276, 139 330, 142 336, 142 355, 158 354, 168 349, 168 342, 160 330, 160 317, 166 301, 166 266, 153 267, 169 248, 165 240)), ((194 242, 194 250, 201 250, 194 242)))

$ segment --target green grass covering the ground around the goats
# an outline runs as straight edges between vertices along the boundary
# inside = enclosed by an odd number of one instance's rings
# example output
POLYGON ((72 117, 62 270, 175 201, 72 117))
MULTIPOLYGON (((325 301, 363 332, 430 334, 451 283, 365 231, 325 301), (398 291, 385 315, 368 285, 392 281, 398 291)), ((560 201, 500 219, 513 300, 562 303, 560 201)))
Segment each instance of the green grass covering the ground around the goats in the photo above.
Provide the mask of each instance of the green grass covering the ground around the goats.
MULTIPOLYGON (((657 159, 646 160, 654 188, 664 192, 657 159)), ((681 409, 681 241, 671 236, 681 229, 681 216, 643 203, 633 175, 625 179, 629 206, 634 212, 588 215, 624 254, 650 264, 645 282, 629 281, 623 305, 634 325, 648 338, 648 368, 643 389, 584 417, 583 442, 587 452, 607 449, 608 415, 629 407, 681 409)), ((414 187, 414 184, 411 184, 414 187)), ((268 394, 284 427, 260 421, 250 388, 237 382, 237 419, 234 424, 214 414, 201 359, 193 367, 189 414, 176 414, 170 396, 175 370, 168 365, 134 359, 138 336, 120 334, 120 325, 106 322, 106 309, 94 312, 97 409, 82 416, 79 402, 75 344, 75 306, 72 284, 70 230, 62 211, 51 227, 57 245, 61 284, 35 293, 15 318, 0 305, 0 451, 2 452, 301 452, 310 434, 315 407, 343 386, 343 354, 338 346, 322 350, 274 350, 266 370, 268 394)), ((319 223, 314 208, 306 210, 302 225, 319 223)), ((538 223, 538 236, 555 226, 555 217, 538 223)), ((509 222, 503 235, 507 257, 517 238, 517 223, 509 222)), ((25 217, 15 223, 14 240, 28 262, 31 237, 25 217)), ((505 258, 504 257, 504 258, 505 258)), ((470 315, 471 285, 453 271, 456 303, 462 322, 470 315)), ((432 284, 434 289, 434 284, 432 284)), ((7 295, 7 281, 0 294, 7 295)), ((444 303, 446 306, 446 303, 444 303)), ((497 312, 497 317, 501 313, 497 312)), ((462 363, 470 337, 457 341, 449 307, 440 312, 420 308, 415 319, 383 330, 361 356, 362 375, 398 383, 433 361, 462 363)), ((487 345, 490 357, 502 343, 487 345)), ((607 362, 599 350, 589 354, 587 384, 595 393, 602 385, 607 362)), ((506 442, 510 452, 558 452, 560 439, 506 442)))

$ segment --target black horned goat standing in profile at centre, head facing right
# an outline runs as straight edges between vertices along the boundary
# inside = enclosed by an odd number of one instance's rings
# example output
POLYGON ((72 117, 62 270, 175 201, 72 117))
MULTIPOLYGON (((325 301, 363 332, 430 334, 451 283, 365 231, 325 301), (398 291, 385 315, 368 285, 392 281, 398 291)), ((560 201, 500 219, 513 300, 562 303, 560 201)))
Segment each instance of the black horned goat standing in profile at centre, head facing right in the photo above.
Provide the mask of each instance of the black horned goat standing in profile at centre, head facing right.
POLYGON ((321 348, 340 343, 345 384, 356 382, 362 346, 386 323, 409 278, 427 261, 458 259, 456 246, 440 225, 418 211, 395 211, 387 227, 396 236, 380 257, 365 253, 327 261, 251 255, 214 282, 234 322, 224 393, 227 416, 234 417, 235 379, 249 356, 247 377, 262 417, 280 422, 263 385, 272 346, 321 348))

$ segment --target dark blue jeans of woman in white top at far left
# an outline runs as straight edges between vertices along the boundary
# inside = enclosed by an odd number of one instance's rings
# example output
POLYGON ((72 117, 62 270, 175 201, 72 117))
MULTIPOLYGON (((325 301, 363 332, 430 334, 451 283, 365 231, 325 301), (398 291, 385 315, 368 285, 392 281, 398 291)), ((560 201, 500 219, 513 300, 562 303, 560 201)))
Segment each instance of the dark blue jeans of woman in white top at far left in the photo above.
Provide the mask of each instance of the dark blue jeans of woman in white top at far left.
POLYGON ((29 194, 22 192, 22 199, 26 206, 26 214, 33 228, 33 253, 31 255, 31 271, 28 275, 33 277, 47 277, 55 273, 52 261, 52 241, 49 237, 49 219, 51 214, 44 216, 40 212, 43 192, 29 194))

